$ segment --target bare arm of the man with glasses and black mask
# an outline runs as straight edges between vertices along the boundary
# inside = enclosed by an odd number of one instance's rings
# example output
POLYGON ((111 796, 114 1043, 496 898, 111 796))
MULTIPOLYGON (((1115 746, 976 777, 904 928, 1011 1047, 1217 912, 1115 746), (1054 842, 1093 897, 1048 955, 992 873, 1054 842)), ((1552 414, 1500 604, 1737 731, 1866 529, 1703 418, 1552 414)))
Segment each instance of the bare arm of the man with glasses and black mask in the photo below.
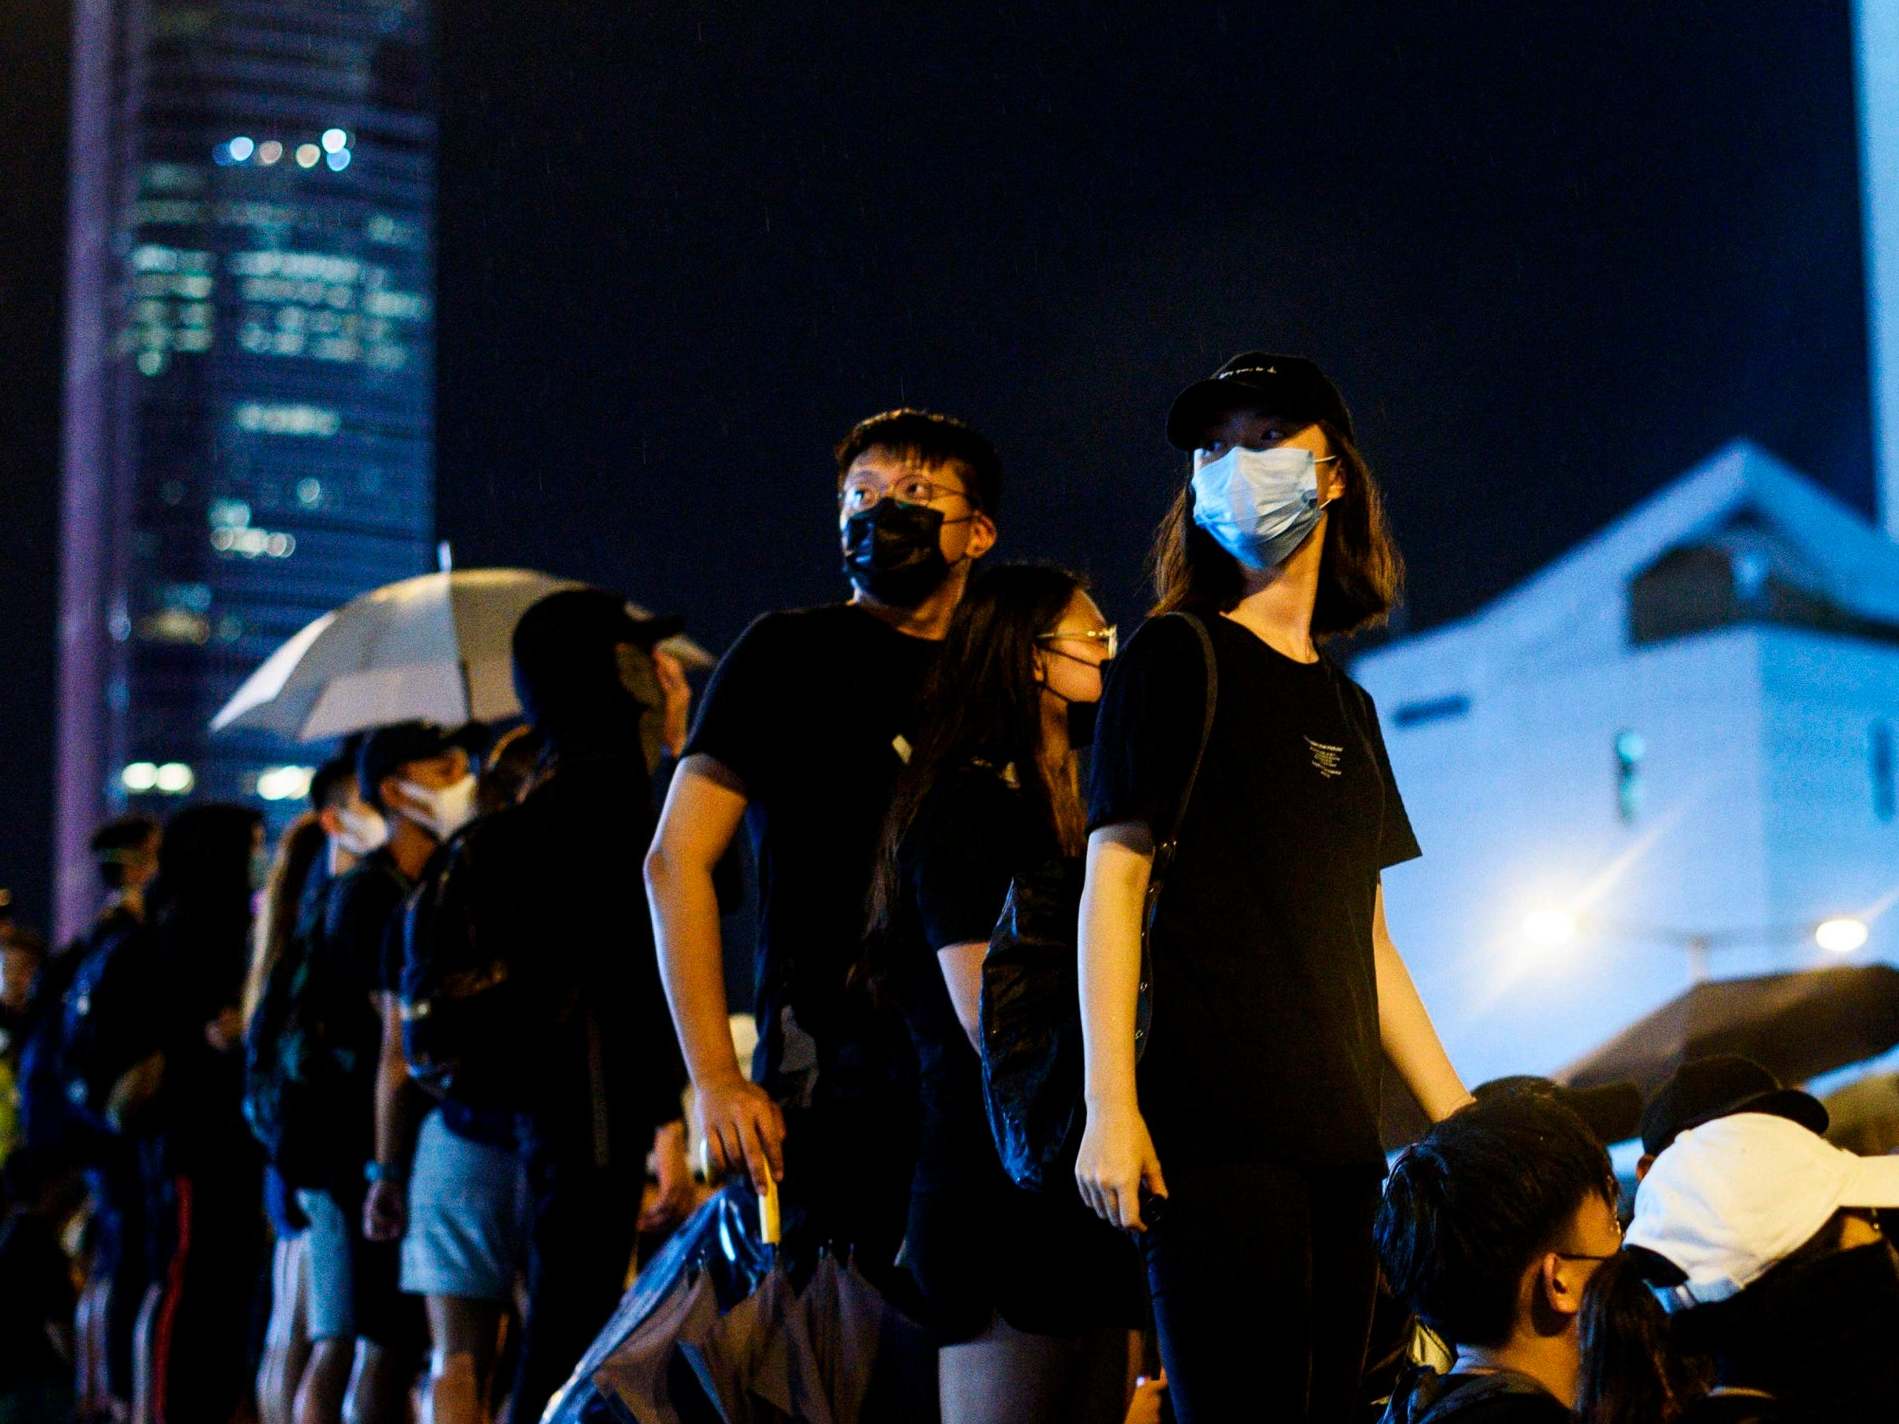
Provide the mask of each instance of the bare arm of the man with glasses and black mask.
POLYGON ((731 1048, 718 890, 712 868, 739 834, 744 786, 710 756, 680 761, 646 854, 646 902, 653 915, 659 978, 672 1027, 699 1097, 714 1171, 744 1164, 758 1190, 784 1175, 784 1115, 763 1088, 746 1082, 731 1048))

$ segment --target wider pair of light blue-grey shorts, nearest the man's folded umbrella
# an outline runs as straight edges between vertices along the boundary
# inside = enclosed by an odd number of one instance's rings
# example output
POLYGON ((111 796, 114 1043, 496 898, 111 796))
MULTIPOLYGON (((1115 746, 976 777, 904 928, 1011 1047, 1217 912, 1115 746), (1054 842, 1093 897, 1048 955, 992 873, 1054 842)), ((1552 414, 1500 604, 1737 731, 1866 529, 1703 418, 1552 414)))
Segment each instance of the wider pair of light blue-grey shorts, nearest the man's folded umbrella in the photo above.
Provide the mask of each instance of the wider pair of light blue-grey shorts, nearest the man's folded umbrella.
POLYGON ((408 1171, 403 1289, 511 1301, 526 1259, 526 1198, 515 1152, 469 1141, 429 1113, 408 1171))

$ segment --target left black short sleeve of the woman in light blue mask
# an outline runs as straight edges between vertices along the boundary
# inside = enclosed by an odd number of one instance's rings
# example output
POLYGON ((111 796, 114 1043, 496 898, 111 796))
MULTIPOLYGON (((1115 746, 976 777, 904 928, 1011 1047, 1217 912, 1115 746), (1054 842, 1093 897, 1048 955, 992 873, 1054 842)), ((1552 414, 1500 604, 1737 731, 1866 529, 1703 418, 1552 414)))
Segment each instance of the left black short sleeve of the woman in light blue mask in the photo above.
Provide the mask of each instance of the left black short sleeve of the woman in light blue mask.
POLYGON ((1206 653, 1187 619, 1141 625, 1107 672, 1088 778, 1088 830, 1179 815, 1206 720, 1206 653))

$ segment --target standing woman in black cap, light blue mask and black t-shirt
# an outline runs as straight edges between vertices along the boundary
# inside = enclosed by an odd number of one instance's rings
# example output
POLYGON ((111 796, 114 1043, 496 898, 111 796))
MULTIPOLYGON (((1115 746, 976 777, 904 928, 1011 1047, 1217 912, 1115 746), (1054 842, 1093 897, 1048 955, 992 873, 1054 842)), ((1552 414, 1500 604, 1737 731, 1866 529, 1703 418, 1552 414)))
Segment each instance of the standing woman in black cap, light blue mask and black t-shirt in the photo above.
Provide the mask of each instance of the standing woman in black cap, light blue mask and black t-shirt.
POLYGON ((1381 1048, 1432 1120, 1468 1099, 1384 928, 1381 871, 1419 849, 1377 710, 1318 647, 1386 613, 1400 560, 1312 363, 1236 357, 1175 401, 1168 439, 1193 477, 1155 545, 1155 611, 1204 623, 1215 712, 1153 923, 1136 1078, 1143 902, 1208 689, 1191 623, 1151 619, 1115 663, 1096 740, 1075 1175, 1143 1234, 1181 1420, 1238 1397, 1339 1418, 1377 1276, 1381 1048), (1153 1230, 1143 1194, 1170 1198, 1153 1230), (1267 1312, 1288 1323, 1263 1333, 1267 1312))

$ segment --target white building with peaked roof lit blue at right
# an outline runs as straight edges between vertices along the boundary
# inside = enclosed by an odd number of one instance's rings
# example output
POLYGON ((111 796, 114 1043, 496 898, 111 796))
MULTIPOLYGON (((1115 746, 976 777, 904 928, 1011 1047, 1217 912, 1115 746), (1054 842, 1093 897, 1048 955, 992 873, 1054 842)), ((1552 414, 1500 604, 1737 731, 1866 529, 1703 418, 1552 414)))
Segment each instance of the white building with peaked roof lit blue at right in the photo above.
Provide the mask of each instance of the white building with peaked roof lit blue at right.
POLYGON ((1696 959, 1899 963, 1899 543, 1764 450, 1354 676, 1424 847, 1392 932, 1468 1082, 1559 1069, 1696 959), (1833 917, 1869 942, 1819 949, 1833 917))

